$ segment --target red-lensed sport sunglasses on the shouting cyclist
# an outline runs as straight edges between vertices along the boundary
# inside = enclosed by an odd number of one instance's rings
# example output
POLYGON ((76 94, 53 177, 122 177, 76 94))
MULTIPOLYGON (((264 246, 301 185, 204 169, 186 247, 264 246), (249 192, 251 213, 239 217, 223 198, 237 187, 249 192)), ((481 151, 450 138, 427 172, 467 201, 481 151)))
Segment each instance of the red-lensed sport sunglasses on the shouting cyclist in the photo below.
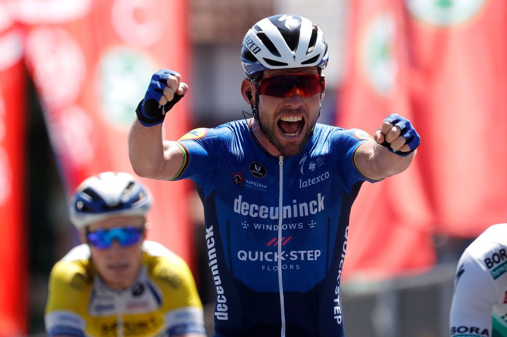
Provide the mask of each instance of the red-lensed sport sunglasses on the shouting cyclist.
POLYGON ((301 95, 310 97, 325 89, 325 79, 319 74, 281 74, 261 78, 256 87, 259 95, 288 97, 301 95))

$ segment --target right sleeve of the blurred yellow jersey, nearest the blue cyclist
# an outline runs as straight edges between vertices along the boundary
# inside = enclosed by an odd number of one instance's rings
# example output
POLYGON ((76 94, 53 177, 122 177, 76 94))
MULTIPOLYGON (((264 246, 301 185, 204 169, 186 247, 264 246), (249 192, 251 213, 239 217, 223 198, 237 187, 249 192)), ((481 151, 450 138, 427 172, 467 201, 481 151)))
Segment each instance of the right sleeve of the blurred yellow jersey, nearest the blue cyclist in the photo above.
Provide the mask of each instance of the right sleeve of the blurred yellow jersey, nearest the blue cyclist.
POLYGON ((194 278, 187 263, 177 257, 156 257, 153 281, 162 290, 162 311, 169 336, 201 333, 204 315, 194 278))

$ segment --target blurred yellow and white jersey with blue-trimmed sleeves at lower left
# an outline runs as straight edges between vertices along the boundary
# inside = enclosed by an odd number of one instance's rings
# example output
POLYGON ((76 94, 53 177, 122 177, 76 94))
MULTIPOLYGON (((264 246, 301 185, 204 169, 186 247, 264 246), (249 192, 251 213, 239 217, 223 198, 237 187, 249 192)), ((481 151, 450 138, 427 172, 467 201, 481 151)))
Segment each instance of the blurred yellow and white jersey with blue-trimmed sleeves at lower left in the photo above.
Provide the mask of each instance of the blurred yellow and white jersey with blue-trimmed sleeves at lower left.
POLYGON ((55 264, 49 280, 48 336, 171 336, 204 334, 202 304, 185 261, 144 241, 142 267, 127 289, 108 288, 82 244, 55 264))

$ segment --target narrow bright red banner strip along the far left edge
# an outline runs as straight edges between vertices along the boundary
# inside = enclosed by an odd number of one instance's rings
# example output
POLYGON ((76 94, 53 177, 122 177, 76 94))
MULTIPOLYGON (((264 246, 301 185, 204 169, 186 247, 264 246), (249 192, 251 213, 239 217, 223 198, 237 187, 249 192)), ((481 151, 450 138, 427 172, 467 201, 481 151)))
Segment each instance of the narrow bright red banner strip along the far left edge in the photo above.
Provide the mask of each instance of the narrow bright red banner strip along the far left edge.
MULTIPOLYGON (((1 7, 1 6, 0 6, 1 7)), ((5 13, 4 13, 5 14, 5 13)), ((1 20, 0 20, 1 21, 1 20)), ((25 79, 22 34, 0 28, 0 335, 27 331, 25 79)))

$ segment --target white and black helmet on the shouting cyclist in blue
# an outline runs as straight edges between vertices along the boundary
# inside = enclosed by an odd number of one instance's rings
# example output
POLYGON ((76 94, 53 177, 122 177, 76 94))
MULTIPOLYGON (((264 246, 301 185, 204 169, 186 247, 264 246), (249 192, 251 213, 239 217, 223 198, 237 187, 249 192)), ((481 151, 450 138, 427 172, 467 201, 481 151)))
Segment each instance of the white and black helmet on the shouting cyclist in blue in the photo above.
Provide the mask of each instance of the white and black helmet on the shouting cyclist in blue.
POLYGON ((328 65, 328 43, 319 26, 297 15, 280 14, 262 19, 246 33, 241 63, 248 78, 267 69, 328 65))

